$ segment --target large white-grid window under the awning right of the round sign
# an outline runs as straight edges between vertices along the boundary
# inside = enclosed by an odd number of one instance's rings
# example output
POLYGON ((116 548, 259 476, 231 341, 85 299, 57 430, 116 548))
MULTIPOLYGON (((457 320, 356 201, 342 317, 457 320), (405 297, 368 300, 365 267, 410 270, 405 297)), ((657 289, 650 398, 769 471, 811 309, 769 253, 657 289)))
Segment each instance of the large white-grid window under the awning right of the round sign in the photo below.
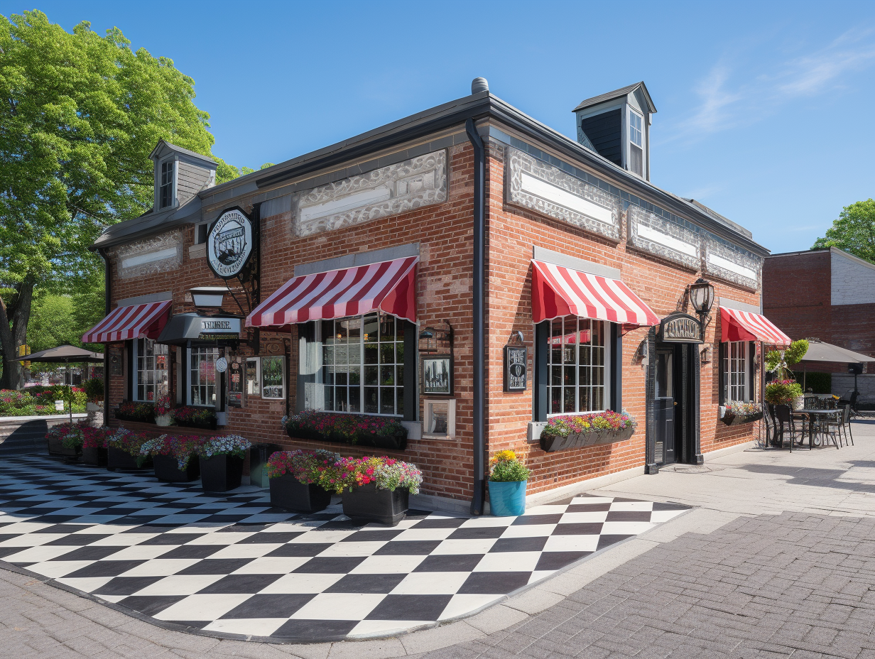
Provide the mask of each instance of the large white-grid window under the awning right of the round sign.
POLYGON ((314 325, 302 332, 305 409, 402 416, 404 321, 368 313, 314 325))

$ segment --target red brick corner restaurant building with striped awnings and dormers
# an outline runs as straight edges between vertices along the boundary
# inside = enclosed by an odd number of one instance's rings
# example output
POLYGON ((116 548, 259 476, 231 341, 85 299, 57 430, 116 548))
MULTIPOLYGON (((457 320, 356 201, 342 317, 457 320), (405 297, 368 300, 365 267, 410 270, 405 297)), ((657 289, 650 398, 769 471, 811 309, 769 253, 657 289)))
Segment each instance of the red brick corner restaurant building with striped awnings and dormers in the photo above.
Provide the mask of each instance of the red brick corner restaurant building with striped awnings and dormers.
POLYGON ((108 343, 108 412, 169 394, 213 407, 220 432, 344 453, 368 451, 289 438, 281 417, 402 418, 417 505, 476 510, 501 449, 525 455, 542 498, 750 442, 759 424, 725 425, 718 408, 760 399, 759 348, 743 329, 721 344, 718 308, 760 313, 767 250, 650 184, 643 83, 574 112, 577 142, 478 79, 458 101, 221 186, 210 159, 158 144, 155 207, 95 243, 108 319, 87 338, 108 343), (718 298, 704 333, 699 277, 718 298), (221 313, 194 305, 221 295, 199 287, 225 289, 221 313), (508 345, 528 351, 520 390, 505 390, 508 345), (637 431, 542 450, 549 417, 598 410, 627 410, 637 431))

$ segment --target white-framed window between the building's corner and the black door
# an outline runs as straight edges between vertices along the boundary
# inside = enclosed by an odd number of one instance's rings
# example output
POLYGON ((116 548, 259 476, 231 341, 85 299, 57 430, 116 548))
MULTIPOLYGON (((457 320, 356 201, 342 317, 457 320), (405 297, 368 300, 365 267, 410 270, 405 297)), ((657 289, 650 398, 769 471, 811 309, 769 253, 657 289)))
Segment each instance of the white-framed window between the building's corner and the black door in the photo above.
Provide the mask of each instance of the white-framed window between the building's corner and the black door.
POLYGON ((607 330, 603 320, 565 316, 550 321, 545 347, 550 414, 608 409, 607 330))

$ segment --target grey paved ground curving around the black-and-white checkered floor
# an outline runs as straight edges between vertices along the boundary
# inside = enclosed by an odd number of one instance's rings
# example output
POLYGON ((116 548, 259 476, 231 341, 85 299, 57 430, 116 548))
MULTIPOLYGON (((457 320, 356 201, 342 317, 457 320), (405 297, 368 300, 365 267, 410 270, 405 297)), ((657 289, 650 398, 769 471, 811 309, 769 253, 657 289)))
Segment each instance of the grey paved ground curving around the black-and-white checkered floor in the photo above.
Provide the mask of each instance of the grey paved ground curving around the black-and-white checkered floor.
POLYGON ((599 493, 700 508, 500 606, 374 641, 265 645, 168 632, 0 571, 21 657, 875 657, 875 426, 840 451, 739 452, 599 493), (872 589, 871 589, 872 588, 872 589))

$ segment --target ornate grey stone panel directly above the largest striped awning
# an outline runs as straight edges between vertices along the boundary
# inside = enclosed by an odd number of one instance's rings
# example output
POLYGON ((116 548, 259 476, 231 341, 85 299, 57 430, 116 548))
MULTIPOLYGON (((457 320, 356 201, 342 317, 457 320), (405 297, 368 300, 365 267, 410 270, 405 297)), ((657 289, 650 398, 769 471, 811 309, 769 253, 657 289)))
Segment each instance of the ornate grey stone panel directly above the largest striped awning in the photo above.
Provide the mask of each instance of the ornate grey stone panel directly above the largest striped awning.
POLYGON ((446 200, 446 151, 432 151, 297 193, 292 233, 304 237, 352 227, 446 200))

